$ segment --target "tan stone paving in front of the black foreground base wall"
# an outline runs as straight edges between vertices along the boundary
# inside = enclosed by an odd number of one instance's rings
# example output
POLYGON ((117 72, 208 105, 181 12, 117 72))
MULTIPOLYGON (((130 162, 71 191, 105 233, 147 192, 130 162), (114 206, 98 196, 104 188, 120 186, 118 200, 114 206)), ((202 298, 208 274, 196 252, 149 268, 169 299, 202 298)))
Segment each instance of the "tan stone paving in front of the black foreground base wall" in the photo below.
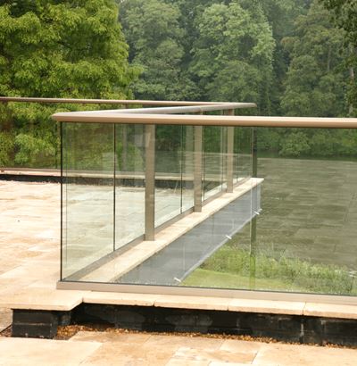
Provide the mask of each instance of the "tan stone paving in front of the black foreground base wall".
POLYGON ((81 331, 68 341, 1 338, 0 365, 355 366, 357 349, 81 331))

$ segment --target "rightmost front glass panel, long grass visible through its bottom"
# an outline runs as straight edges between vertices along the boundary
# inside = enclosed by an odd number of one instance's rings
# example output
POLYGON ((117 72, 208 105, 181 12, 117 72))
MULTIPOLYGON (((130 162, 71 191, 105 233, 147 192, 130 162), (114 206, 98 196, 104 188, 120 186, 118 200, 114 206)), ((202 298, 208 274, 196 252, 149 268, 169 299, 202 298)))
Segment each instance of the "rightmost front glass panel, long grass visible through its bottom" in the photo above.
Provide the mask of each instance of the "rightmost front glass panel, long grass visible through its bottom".
POLYGON ((254 288, 357 295, 357 130, 258 129, 258 141, 254 288))

